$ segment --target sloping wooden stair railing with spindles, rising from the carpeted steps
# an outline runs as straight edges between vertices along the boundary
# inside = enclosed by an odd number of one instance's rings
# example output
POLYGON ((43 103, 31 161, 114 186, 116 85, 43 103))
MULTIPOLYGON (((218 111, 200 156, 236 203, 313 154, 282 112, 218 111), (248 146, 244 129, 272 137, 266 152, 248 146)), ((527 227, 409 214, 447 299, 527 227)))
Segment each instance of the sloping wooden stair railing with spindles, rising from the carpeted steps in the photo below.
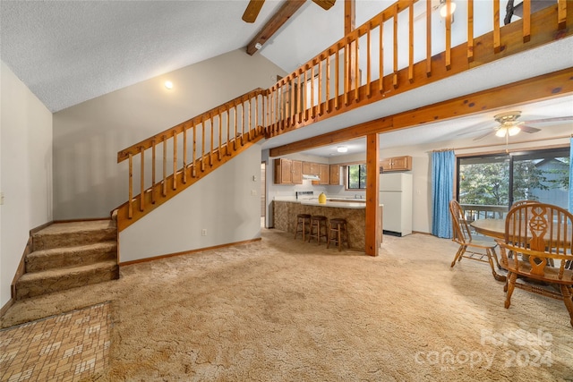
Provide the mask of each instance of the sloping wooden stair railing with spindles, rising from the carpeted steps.
POLYGON ((128 201, 117 208, 119 231, 264 138, 266 93, 252 90, 119 151, 117 163, 129 166, 128 201))

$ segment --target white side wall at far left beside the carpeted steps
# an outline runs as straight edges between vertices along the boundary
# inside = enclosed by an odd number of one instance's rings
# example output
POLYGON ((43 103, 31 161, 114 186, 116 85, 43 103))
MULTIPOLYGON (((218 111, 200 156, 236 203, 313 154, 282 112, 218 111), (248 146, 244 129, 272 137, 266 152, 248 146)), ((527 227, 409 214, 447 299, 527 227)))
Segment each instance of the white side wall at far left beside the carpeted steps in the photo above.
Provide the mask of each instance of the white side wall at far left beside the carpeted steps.
POLYGON ((0 62, 0 307, 30 229, 52 220, 52 114, 0 62))

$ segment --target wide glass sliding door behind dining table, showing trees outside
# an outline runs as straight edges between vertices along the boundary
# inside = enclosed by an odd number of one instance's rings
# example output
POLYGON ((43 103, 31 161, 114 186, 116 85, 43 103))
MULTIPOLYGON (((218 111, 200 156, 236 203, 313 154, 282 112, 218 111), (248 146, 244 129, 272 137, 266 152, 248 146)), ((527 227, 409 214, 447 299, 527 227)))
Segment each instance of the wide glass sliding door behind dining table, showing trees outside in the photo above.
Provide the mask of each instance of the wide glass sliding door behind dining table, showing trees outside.
POLYGON ((460 204, 502 212, 521 199, 568 208, 569 148, 458 158, 460 204))

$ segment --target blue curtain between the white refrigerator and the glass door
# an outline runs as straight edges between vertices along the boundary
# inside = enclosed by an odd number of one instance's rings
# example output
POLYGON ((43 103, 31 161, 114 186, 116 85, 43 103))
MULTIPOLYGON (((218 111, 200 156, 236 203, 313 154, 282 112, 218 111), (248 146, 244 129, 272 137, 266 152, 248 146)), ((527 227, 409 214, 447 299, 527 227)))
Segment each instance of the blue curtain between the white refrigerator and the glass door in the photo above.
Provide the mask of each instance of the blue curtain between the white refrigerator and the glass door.
POLYGON ((454 198, 456 156, 453 150, 432 153, 432 234, 451 238, 449 200, 454 198))

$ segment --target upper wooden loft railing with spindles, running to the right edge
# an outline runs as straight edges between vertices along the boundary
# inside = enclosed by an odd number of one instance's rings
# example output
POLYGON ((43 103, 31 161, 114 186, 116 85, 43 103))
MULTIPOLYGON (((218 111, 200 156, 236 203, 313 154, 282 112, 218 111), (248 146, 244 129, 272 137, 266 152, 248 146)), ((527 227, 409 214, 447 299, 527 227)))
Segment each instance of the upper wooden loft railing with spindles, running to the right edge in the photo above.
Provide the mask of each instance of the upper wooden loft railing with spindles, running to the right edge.
POLYGON ((269 89, 267 138, 572 33, 571 1, 531 14, 524 0, 523 18, 504 26, 500 0, 456 3, 454 29, 431 1, 400 0, 278 81, 269 89))

